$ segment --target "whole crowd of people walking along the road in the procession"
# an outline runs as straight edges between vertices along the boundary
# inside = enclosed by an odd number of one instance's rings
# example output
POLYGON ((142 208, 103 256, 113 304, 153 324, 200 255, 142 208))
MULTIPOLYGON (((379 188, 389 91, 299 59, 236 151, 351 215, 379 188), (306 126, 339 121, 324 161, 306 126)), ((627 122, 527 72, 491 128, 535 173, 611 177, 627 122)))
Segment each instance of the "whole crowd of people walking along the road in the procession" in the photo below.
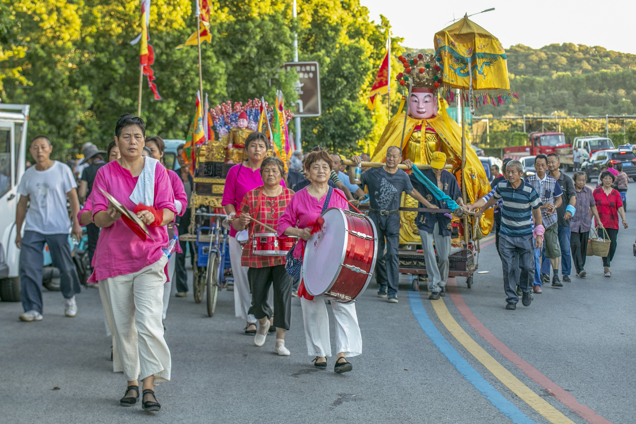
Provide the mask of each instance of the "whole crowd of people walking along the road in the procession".
MULTIPOLYGON (((305 244, 319 231, 319 217, 330 207, 349 210, 368 201, 368 218, 377 230, 373 270, 379 284, 377 296, 391 304, 399 302, 402 193, 426 209, 418 212, 415 224, 432 301, 446 296, 452 216, 435 210, 447 209, 449 204, 456 202, 477 215, 495 208, 495 245, 508 310, 516 309, 519 297, 523 305, 530 306, 533 294, 541 293, 544 284, 563 287, 563 282, 571 282, 572 262, 577 277, 586 277, 593 228, 611 241, 602 258, 604 275, 611 277, 619 223, 628 228, 619 193, 623 185, 626 189, 626 181, 618 181, 621 170, 602 172, 601 185, 591 190, 583 172, 575 172, 573 178, 561 172, 554 153, 537 155, 536 174, 526 179, 519 161, 504 160, 501 174, 499 167, 492 169, 496 175, 492 191, 464 205, 457 179, 445 170, 446 155, 439 151, 432 153, 431 169, 422 172, 434 189, 423 184, 419 174, 398 168, 400 163, 412 168, 413 163, 403 161, 403 152, 395 146, 387 149, 384 165, 364 167, 360 174, 355 165, 369 161, 368 155, 352 156, 354 165, 347 169, 343 156, 315 147, 307 154, 294 153, 284 164, 271 155, 268 139, 260 132, 250 133, 244 148, 247 159, 228 171, 222 199, 227 214, 224 225, 230 229, 235 315, 245 322, 244 333, 254 337, 254 345, 264 346, 268 334, 275 333, 274 352, 287 356, 291 354, 285 346, 291 298, 300 297, 307 354, 314 357, 312 362, 319 369, 326 369, 331 357, 327 305, 322 297, 310 294, 302 278, 294 278, 293 266, 288 265, 303 261, 305 244), (271 232, 298 240, 287 257, 259 256, 247 242, 254 234, 271 232)), ((188 232, 191 221, 188 205, 193 178, 190 165, 181 157, 183 146, 177 149, 178 172, 167 170, 163 139, 146 136, 141 118, 123 114, 106 151, 92 144, 84 146, 84 159, 76 166, 82 167, 79 187, 73 174, 76 169, 51 160, 52 149, 45 136, 32 140, 29 151, 36 163, 27 169, 18 188, 18 228, 24 222, 24 235, 18 233, 15 240, 22 249, 20 284, 25 312, 20 319, 43 319, 42 267, 34 264, 43 263, 45 243, 53 266, 60 269, 65 313, 67 317, 76 315, 79 278, 68 236, 80 238, 81 226, 86 226, 93 269, 88 283, 99 287, 107 332, 113 339, 113 370, 123 372, 127 381, 120 403, 132 406, 141 395, 144 410, 159 411, 153 383, 169 381, 171 369, 170 350, 163 337, 170 277, 176 280, 176 296, 188 296, 186 242, 176 244, 174 255, 165 251, 169 240, 188 232), (122 214, 119 205, 133 211, 143 224, 122 214)), ((353 369, 350 358, 362 353, 356 304, 330 303, 337 352, 334 371, 345 373, 353 369)))

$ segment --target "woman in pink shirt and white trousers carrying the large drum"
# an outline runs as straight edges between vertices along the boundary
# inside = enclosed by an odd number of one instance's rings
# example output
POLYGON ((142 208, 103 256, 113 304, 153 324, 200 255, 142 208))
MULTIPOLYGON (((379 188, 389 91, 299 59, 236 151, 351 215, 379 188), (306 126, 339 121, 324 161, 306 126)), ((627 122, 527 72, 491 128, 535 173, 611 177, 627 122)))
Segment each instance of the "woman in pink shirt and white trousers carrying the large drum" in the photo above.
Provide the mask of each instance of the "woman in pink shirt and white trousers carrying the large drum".
MULTIPOLYGON (((312 151, 308 154, 305 159, 305 175, 308 175, 312 183, 291 196, 291 201, 280 217, 277 228, 279 235, 298 236, 302 239, 301 242, 296 243, 294 257, 300 258, 301 252, 305 249, 305 243, 311 238, 312 226, 308 223, 313 224, 321 215, 322 206, 329 191, 328 181, 331 170, 333 170, 333 160, 326 151, 312 151)), ((331 194, 328 207, 349 209, 342 196, 337 193, 331 194)), ((344 196, 342 191, 340 194, 344 196)), ((298 296, 303 309, 308 355, 315 356, 312 362, 315 362, 316 367, 325 369, 326 357, 331 357, 327 307, 322 297, 314 298, 308 294, 303 281, 300 282, 298 296)), ((331 302, 331 308, 336 321, 336 350, 338 350, 333 371, 345 373, 353 369, 346 358, 362 353, 362 336, 357 322, 356 304, 331 302)))

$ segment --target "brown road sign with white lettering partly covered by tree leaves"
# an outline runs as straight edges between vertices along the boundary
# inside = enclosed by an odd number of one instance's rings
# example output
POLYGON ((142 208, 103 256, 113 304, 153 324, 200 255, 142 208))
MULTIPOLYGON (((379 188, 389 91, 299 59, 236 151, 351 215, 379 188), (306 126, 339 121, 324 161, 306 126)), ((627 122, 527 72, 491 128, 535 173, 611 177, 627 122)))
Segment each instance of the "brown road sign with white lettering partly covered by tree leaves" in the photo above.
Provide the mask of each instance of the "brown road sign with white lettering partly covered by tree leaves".
POLYGON ((321 116, 320 71, 318 62, 286 62, 282 69, 296 69, 298 81, 294 89, 298 93, 294 116, 321 116))

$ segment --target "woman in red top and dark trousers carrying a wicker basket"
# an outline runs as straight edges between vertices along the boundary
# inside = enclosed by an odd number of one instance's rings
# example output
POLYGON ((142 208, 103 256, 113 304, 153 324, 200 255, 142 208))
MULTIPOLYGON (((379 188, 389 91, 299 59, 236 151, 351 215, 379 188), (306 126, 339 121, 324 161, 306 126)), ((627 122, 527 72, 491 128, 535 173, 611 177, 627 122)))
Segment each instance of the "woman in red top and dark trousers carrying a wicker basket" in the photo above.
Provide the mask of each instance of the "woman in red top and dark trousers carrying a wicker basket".
MULTIPOLYGON (((621 193, 618 193, 612 188, 614 184, 614 174, 609 171, 605 171, 600 174, 598 179, 603 182, 603 185, 595 189, 593 192, 594 201, 597 205, 598 216, 600 222, 607 230, 609 240, 609 253, 603 257, 603 272, 605 277, 612 277, 612 272, 609 269, 609 263, 614 258, 616 253, 616 238, 618 237, 618 214, 623 219, 623 228, 627 228, 627 221, 625 221, 625 209, 623 209, 623 200, 621 200, 621 193), (617 214, 618 212, 618 214, 617 214)), ((598 226, 598 222, 597 222, 598 226)), ((599 234, 600 235, 600 234, 599 234)))

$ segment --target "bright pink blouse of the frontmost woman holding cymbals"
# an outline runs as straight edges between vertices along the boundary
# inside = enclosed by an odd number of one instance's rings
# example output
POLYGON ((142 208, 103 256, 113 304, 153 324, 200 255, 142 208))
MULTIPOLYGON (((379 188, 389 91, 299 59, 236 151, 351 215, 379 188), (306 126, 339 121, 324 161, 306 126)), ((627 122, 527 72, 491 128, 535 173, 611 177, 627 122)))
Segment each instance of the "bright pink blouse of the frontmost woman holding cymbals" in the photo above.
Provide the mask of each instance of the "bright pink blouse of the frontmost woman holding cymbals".
MULTIPOLYGON (((116 160, 99 168, 91 193, 93 222, 95 214, 100 210, 106 210, 109 203, 100 188, 116 198, 124 207, 133 210, 135 205, 129 197, 137 184, 137 179, 139 177, 133 177, 130 171, 122 168, 116 160)), ((155 203, 153 207, 177 212, 174 207, 170 179, 161 163, 157 163, 155 168, 155 203)), ((97 282, 118 275, 134 273, 161 259, 162 248, 168 245, 168 232, 165 226, 149 226, 148 232, 155 241, 150 238, 142 241, 121 219, 109 227, 102 228, 93 257, 95 270, 89 281, 97 282)))

